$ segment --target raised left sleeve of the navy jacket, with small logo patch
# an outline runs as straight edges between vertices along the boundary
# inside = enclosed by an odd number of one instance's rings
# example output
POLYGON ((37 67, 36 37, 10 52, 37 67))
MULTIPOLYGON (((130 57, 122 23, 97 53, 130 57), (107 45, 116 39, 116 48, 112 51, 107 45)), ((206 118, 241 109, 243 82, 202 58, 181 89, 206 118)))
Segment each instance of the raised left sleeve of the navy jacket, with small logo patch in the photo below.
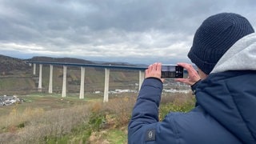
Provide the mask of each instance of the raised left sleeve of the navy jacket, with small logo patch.
POLYGON ((144 80, 128 126, 128 143, 158 142, 156 135, 162 133, 160 129, 163 124, 158 122, 161 94, 162 82, 159 79, 144 80))

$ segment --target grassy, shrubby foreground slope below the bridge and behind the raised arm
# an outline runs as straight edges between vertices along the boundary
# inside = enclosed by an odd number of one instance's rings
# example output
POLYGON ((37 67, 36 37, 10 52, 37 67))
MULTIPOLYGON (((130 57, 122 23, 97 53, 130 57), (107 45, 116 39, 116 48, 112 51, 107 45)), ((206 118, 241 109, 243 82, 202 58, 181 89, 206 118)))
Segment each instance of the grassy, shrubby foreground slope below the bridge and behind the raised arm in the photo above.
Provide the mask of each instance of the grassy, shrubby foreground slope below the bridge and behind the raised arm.
MULTIPOLYGON (((127 143, 137 94, 110 95, 109 102, 98 95, 87 94, 84 100, 77 95, 32 94, 23 96, 22 104, 1 107, 0 143, 127 143)), ((193 107, 191 94, 163 94, 159 118, 193 107)))

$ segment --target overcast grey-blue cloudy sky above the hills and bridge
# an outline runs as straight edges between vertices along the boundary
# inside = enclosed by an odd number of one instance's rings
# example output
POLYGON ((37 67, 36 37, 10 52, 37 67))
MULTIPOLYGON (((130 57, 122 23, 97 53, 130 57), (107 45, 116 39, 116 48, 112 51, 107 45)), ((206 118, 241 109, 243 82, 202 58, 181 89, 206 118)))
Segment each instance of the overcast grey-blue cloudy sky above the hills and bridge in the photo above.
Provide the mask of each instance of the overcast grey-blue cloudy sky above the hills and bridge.
POLYGON ((190 62, 194 33, 232 12, 256 28, 255 0, 0 0, 0 54, 90 61, 190 62))

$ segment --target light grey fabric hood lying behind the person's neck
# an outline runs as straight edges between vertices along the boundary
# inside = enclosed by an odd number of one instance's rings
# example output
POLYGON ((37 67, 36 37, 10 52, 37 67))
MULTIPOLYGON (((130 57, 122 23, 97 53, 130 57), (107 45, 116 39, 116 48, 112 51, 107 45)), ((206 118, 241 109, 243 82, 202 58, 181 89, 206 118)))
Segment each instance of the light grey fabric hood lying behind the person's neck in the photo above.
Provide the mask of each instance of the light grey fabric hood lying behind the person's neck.
POLYGON ((211 73, 227 70, 256 70, 256 33, 248 34, 234 43, 211 73))

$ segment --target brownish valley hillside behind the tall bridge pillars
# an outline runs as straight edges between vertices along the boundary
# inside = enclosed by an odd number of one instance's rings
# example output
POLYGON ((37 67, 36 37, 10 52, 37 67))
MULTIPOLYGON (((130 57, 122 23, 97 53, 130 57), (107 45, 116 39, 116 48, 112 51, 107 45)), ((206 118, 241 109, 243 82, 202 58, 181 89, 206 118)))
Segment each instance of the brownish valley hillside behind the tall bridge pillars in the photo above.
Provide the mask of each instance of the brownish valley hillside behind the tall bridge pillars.
MULTIPOLYGON (((33 75, 33 66, 29 66, 26 61, 41 62, 70 62, 70 63, 87 63, 95 62, 86 61, 78 58, 50 58, 34 57, 30 59, 11 58, 4 55, 0 56, 0 94, 27 94, 37 91, 38 87, 38 70, 33 75)), ((99 64, 99 63, 97 63, 99 64)), ((120 65, 120 63, 102 62, 100 64, 120 65)), ((127 63, 123 63, 129 65, 127 63)), ((49 66, 44 65, 42 70, 42 88, 43 92, 47 91, 49 83, 49 66)), ((138 89, 135 83, 138 83, 138 71, 134 70, 110 70, 110 90, 115 89, 138 89)), ((67 68, 67 92, 78 93, 80 90, 80 67, 67 68)), ((86 92, 104 90, 104 69, 86 68, 85 90, 86 92)), ((62 66, 54 66, 54 93, 61 93, 62 90, 62 66)))

